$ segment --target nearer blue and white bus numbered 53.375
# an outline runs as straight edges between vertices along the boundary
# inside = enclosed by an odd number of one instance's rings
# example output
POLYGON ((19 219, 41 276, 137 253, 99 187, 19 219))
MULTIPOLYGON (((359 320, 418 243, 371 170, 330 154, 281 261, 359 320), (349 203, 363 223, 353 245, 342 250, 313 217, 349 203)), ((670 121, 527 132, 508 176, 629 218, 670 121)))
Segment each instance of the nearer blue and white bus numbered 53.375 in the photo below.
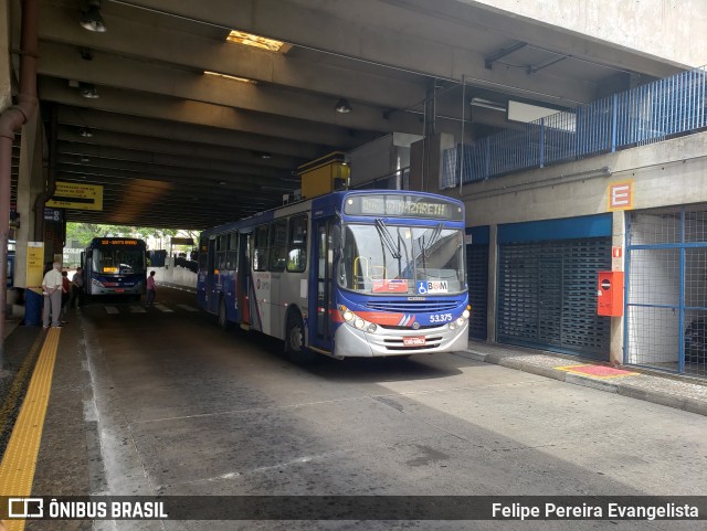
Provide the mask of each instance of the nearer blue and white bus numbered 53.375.
POLYGON ((341 191, 201 233, 197 298, 222 327, 316 353, 463 350, 464 205, 422 192, 341 191))

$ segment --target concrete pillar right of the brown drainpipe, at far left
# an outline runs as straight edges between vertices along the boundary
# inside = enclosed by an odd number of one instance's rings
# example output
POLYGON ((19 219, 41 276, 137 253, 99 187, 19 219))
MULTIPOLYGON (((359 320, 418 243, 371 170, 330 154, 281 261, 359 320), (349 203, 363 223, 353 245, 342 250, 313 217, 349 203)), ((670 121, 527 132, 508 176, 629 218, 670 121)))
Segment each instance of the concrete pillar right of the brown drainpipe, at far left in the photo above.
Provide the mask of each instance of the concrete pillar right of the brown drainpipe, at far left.
MULTIPOLYGON (((14 285, 27 287, 27 243, 34 241, 34 201, 44 190, 42 163, 42 121, 35 113, 22 128, 20 172, 18 178, 18 204, 20 227, 17 236, 14 285)), ((48 258, 44 258, 48 262, 48 258)))

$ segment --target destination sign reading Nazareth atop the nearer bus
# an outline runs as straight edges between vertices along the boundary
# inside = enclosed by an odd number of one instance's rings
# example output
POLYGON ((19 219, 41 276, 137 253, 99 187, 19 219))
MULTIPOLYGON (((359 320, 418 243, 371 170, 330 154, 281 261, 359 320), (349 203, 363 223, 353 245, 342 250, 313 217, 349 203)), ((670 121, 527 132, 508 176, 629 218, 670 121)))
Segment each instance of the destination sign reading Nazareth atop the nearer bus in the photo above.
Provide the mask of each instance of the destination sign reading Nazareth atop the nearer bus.
POLYGON ((462 208, 460 205, 423 195, 352 195, 347 198, 344 212, 349 215, 462 221, 462 208))

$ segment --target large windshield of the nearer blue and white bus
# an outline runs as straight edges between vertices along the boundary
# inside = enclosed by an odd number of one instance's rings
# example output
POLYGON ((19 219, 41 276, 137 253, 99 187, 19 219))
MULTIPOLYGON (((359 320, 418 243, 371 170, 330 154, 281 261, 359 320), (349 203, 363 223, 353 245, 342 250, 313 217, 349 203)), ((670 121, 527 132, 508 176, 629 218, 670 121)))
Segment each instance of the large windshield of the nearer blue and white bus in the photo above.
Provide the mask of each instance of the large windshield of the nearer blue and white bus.
POLYGON ((339 286, 362 294, 444 295, 466 289, 461 230, 436 226, 344 226, 339 286))

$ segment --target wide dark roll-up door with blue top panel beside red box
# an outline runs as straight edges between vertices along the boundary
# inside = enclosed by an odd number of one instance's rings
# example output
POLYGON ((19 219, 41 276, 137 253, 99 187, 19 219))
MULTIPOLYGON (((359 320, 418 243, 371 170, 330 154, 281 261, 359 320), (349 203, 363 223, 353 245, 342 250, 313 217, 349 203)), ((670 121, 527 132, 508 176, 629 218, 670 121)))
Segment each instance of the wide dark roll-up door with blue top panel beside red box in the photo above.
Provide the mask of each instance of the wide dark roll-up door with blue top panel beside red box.
POLYGON ((611 217, 504 225, 498 240, 497 340, 608 360, 597 278, 611 269, 611 217))

